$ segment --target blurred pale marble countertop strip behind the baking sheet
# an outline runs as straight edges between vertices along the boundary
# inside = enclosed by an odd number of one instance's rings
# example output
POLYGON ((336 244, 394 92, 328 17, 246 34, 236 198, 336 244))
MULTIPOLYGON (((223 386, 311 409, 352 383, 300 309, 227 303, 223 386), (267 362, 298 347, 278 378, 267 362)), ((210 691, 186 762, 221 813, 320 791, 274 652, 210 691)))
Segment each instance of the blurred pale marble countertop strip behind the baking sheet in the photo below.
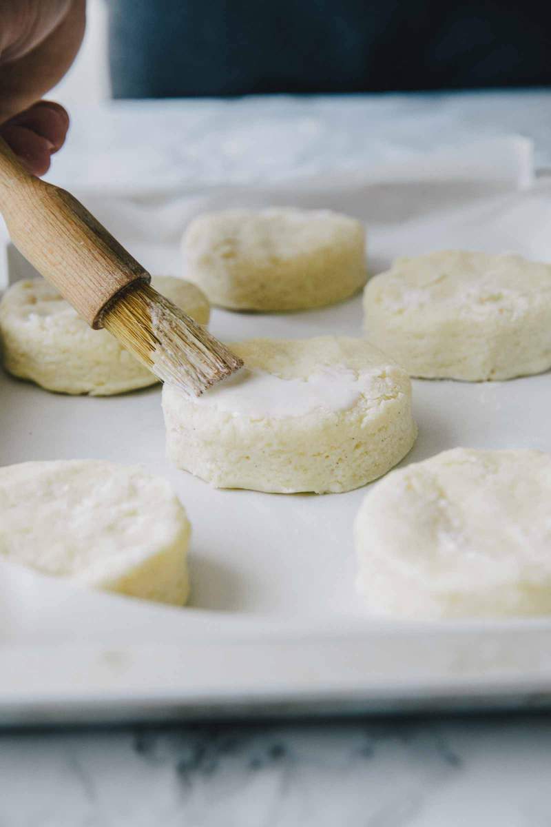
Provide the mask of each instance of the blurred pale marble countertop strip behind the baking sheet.
POLYGON ((95 190, 328 174, 523 135, 551 168, 551 90, 116 101, 73 108, 50 179, 95 190))

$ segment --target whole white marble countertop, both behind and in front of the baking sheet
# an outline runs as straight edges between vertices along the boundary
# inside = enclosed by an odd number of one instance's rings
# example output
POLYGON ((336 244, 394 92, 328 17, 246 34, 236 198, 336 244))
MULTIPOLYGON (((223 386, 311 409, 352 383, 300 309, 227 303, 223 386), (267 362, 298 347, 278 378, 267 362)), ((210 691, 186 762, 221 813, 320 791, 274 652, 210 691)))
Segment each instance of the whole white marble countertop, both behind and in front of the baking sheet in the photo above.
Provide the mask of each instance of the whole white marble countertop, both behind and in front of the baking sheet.
MULTIPOLYGON (((551 167, 551 92, 112 103, 73 112, 50 179, 317 174, 519 133, 551 167)), ((548 716, 0 734, 2 827, 544 827, 548 716)))

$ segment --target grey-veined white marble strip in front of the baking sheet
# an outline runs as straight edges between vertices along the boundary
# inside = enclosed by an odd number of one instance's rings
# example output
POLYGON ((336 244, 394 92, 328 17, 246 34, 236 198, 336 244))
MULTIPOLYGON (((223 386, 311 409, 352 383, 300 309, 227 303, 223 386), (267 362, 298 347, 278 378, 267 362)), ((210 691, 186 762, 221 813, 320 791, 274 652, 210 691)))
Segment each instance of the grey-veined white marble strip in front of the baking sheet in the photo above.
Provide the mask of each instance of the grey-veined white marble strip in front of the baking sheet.
POLYGON ((551 719, 4 734, 8 827, 547 827, 551 719))

